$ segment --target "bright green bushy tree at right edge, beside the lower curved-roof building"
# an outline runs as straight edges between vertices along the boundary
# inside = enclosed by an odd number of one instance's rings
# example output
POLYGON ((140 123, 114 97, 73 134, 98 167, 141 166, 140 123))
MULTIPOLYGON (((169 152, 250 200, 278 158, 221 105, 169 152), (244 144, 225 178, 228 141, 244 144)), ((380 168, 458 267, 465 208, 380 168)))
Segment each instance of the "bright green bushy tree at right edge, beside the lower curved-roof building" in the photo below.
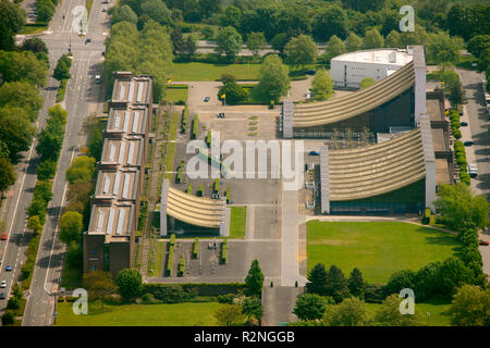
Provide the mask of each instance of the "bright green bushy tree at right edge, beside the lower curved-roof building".
POLYGON ((488 225, 488 202, 471 192, 468 185, 440 185, 436 208, 444 224, 456 232, 465 227, 485 228, 488 225))

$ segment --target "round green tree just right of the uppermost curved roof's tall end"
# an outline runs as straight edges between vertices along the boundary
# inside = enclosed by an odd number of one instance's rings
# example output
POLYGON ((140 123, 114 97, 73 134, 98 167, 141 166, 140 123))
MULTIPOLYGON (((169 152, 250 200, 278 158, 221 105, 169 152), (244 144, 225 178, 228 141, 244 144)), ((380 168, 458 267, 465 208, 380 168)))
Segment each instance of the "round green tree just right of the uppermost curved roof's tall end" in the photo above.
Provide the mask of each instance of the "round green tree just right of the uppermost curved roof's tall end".
POLYGON ((427 59, 434 63, 451 62, 457 64, 460 50, 464 47, 461 37, 450 37, 448 33, 431 33, 427 36, 427 59))

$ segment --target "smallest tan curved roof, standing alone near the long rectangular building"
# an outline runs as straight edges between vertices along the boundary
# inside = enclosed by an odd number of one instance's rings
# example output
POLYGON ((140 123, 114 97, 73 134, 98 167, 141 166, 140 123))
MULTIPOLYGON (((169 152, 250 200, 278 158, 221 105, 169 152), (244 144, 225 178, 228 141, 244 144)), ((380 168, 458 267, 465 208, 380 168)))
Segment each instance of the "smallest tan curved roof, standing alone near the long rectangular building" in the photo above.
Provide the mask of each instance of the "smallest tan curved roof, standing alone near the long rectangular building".
POLYGON ((223 221, 224 208, 224 201, 187 195, 169 187, 167 213, 185 223, 203 227, 219 227, 223 221))

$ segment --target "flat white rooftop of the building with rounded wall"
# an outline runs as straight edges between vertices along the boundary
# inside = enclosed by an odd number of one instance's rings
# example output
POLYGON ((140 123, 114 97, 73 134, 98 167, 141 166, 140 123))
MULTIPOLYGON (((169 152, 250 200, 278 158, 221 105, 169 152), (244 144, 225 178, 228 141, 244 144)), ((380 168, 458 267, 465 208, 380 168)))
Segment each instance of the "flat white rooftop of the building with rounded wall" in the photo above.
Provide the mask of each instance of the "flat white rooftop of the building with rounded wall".
POLYGON ((332 61, 403 66, 412 62, 413 58, 414 57, 409 50, 385 48, 344 53, 332 58, 332 61))

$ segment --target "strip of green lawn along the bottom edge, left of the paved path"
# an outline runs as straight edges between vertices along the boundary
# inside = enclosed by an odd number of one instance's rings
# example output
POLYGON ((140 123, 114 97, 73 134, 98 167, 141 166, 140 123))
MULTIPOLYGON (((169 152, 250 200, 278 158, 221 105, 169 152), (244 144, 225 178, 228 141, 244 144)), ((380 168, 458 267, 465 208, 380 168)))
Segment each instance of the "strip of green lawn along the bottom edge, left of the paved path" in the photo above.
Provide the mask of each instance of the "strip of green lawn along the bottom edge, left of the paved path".
POLYGON ((58 303, 56 326, 216 326, 218 302, 176 304, 89 304, 88 315, 75 315, 73 303, 58 303), (93 313, 93 314, 90 314, 93 313))

